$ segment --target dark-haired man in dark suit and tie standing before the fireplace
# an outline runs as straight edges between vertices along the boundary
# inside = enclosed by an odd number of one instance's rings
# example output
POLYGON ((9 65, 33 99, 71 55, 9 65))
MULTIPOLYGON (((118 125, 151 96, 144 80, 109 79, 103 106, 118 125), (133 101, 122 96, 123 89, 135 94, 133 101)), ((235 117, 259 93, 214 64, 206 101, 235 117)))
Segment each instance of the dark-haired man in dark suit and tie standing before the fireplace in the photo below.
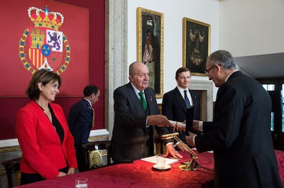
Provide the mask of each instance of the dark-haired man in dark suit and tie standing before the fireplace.
MULTIPOLYGON (((184 122, 187 120, 187 105, 185 103, 185 91, 189 99, 189 107, 193 107, 193 119, 200 120, 199 96, 197 92, 189 90, 191 81, 191 71, 186 67, 176 70, 176 83, 178 84, 174 90, 164 94, 162 114, 167 116, 169 120, 184 122)), ((192 116, 192 115, 191 115, 192 116)), ((173 132, 173 128, 169 127, 169 131, 173 132)), ((185 131, 179 131, 178 136, 182 142, 187 143, 185 139, 185 131)), ((180 150, 183 150, 182 144, 177 144, 180 150)))

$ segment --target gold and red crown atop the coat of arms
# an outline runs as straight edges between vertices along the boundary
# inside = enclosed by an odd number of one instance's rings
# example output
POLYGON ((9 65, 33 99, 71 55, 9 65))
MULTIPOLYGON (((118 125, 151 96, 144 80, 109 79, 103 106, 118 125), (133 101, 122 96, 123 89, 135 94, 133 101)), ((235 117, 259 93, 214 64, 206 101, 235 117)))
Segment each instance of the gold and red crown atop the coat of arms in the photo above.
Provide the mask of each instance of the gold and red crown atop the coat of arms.
POLYGON ((34 27, 47 27, 58 30, 64 21, 64 16, 60 12, 49 12, 47 6, 45 7, 45 10, 30 7, 27 10, 27 15, 34 23, 34 27))

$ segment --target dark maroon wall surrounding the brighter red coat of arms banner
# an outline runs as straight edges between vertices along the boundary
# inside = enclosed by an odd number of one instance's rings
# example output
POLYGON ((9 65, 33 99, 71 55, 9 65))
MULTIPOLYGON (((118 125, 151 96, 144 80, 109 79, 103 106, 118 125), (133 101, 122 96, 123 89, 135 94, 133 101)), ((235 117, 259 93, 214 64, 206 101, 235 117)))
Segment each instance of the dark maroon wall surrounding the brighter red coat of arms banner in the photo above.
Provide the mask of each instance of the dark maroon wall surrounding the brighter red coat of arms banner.
MULTIPOLYGON (((57 0, 58 2, 88 8, 89 10, 89 83, 98 86, 101 94, 95 103, 95 127, 104 128, 104 0, 57 0), (93 5, 95 3, 95 5, 93 5)), ((1 52, 0 52, 1 53, 1 52)), ((3 54, 2 54, 3 55, 3 54)), ((9 84, 9 83, 7 83, 9 84)), ((72 85, 70 85, 72 87, 72 85)), ((5 85, 1 85, 5 90, 5 85)), ((83 92, 83 91, 82 91, 83 92)), ((56 103, 60 104, 67 118, 73 103, 81 98, 57 97, 56 103)), ((0 96, 0 139, 15 138, 14 123, 16 111, 28 103, 27 97, 1 97, 0 96)))

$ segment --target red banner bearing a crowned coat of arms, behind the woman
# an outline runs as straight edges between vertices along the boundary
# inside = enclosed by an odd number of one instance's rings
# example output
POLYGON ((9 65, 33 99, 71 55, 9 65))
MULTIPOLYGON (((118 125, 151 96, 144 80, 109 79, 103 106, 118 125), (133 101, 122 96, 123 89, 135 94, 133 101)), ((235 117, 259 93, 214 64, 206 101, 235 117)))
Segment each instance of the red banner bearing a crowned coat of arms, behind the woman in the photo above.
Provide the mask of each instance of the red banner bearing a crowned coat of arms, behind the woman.
POLYGON ((88 10, 56 1, 0 1, 0 96, 25 96, 36 70, 62 78, 60 96, 88 84, 88 10))

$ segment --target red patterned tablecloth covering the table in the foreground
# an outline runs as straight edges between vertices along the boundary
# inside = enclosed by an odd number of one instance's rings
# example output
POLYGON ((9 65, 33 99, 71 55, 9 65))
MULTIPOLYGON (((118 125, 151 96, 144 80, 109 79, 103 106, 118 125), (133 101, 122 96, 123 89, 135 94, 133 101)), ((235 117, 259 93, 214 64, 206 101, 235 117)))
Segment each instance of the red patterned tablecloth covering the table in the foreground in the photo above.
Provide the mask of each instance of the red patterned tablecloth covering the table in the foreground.
MULTIPOLYGON (((189 153, 181 152, 187 161, 189 153)), ((180 162, 172 163, 171 170, 156 172, 153 163, 137 160, 134 163, 110 165, 96 170, 80 172, 51 180, 43 180, 23 187, 75 187, 75 178, 88 178, 88 188, 92 187, 202 187, 213 181, 213 154, 198 154, 200 167, 196 171, 182 171, 180 162)))

